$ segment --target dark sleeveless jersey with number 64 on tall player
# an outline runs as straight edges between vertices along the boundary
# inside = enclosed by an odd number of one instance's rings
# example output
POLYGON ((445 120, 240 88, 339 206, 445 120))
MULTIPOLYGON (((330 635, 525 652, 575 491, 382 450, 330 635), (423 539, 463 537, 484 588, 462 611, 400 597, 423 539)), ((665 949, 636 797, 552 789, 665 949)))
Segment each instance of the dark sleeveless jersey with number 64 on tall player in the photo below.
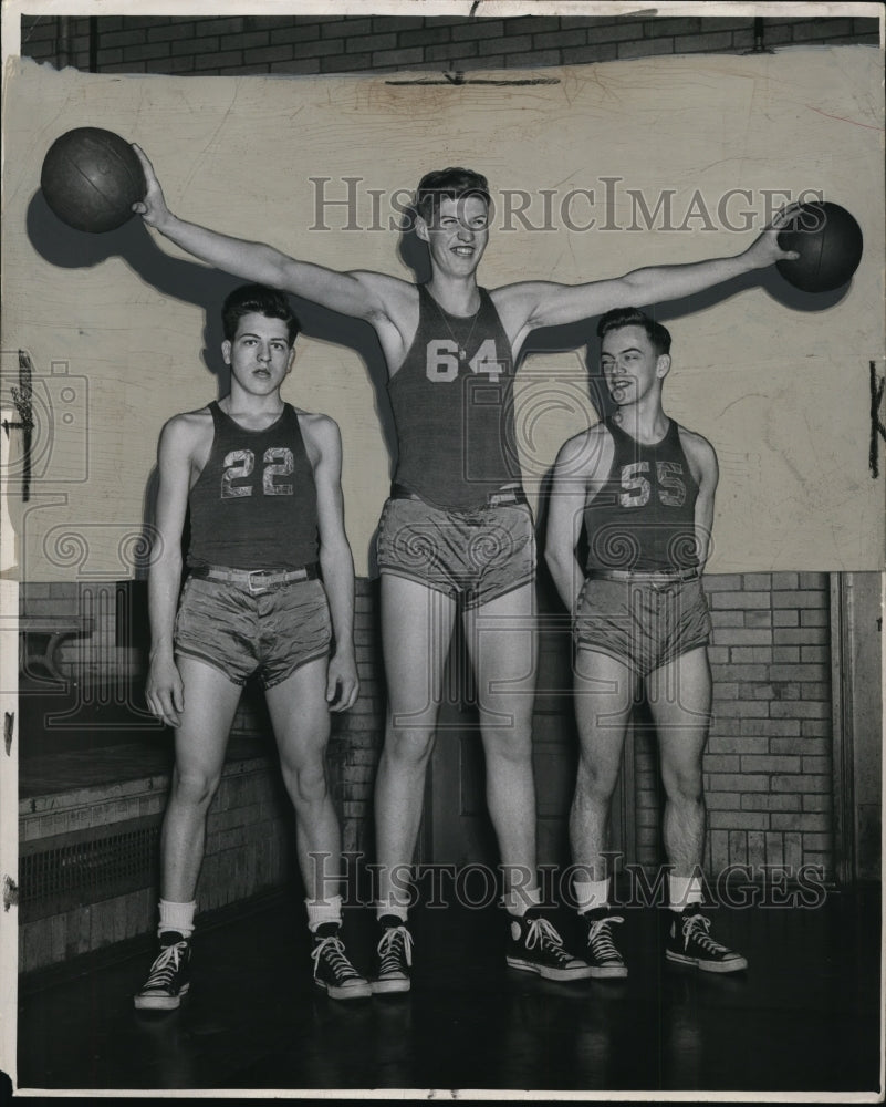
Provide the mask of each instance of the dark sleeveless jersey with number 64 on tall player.
POLYGON ((388 382, 399 457, 395 480, 468 510, 520 482, 513 353, 486 289, 476 315, 450 315, 418 286, 418 330, 388 382))

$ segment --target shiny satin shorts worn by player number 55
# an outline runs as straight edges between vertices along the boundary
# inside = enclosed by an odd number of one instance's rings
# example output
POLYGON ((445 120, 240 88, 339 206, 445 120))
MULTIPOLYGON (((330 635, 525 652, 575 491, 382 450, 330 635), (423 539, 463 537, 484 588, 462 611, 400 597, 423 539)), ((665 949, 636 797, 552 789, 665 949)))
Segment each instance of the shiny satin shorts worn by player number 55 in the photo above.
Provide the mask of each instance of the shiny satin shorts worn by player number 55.
POLYGON ((655 582, 588 578, 574 620, 578 649, 608 653, 648 676, 706 645, 711 622, 700 579, 655 582))

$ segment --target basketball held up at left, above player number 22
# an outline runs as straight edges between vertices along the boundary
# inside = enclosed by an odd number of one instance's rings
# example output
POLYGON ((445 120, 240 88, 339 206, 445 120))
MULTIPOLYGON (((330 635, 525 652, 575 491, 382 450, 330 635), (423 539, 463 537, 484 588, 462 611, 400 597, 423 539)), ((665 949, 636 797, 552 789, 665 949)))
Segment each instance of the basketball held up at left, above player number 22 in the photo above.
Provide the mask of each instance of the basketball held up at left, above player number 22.
POLYGON ((113 131, 77 127, 50 146, 40 187, 52 211, 69 227, 115 230, 144 198, 145 174, 135 151, 113 131))

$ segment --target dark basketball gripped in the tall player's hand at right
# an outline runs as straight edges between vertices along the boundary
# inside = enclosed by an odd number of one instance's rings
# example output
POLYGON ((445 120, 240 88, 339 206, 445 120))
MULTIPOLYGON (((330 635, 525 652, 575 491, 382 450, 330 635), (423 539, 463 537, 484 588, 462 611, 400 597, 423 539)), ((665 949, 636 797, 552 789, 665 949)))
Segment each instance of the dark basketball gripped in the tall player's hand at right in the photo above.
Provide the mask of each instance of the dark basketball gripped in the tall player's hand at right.
POLYGON ((779 231, 779 246, 796 261, 776 261, 782 277, 802 292, 831 292, 846 283, 862 260, 862 228, 838 204, 801 204, 779 231))

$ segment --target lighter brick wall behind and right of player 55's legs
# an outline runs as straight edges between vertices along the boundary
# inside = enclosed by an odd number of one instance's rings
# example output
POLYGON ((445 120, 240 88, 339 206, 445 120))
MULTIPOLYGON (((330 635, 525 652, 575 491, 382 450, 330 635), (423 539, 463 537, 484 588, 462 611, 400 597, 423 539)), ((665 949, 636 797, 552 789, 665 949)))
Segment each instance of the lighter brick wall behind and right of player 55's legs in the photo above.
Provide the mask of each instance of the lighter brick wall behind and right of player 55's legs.
MULTIPOLYGON (((706 576, 713 721, 705 753, 706 870, 821 867, 834 877, 830 578, 706 576)), ((652 736, 636 742, 638 860, 660 858, 652 736)))

